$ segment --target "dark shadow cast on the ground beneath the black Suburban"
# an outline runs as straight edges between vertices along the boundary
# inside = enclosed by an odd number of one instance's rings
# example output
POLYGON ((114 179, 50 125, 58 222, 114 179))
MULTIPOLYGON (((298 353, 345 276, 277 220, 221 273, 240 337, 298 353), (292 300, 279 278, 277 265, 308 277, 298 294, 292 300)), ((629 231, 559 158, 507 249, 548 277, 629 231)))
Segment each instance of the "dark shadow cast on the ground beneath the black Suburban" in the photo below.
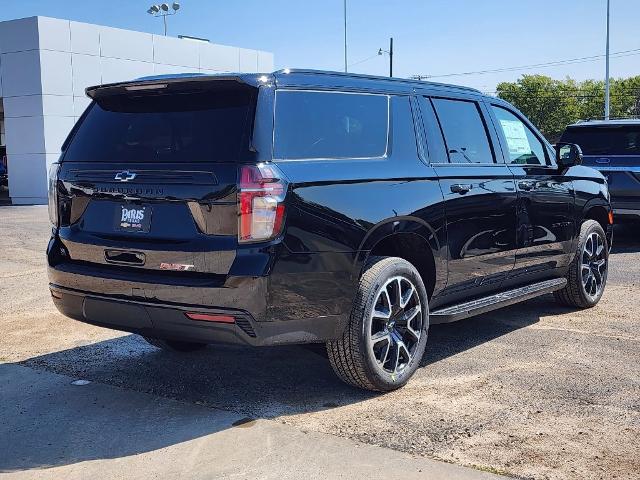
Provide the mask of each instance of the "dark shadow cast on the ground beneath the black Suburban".
MULTIPOLYGON (((429 375, 428 365, 558 311, 562 309, 549 306, 546 298, 454 324, 434 325, 423 361, 427 368, 418 373, 429 375)), ((29 388, 3 395, 3 409, 20 406, 20 414, 0 414, 6 431, 0 437, 10 438, 14 451, 28 454, 6 454, 5 450, 0 455, 0 472, 136 455, 232 428, 234 418, 275 418, 376 396, 343 384, 317 349, 299 346, 210 346, 200 352, 170 354, 149 346, 141 337, 126 335, 33 357, 19 366, 67 377, 62 385, 32 382, 29 388), (81 388, 69 387, 72 379, 125 390, 115 404, 99 396, 68 401, 65 389, 81 388), (33 401, 38 396, 50 399, 46 408, 33 401), (148 404, 150 398, 159 397, 178 402, 148 404), (185 408, 172 410, 167 403, 187 407, 186 413, 185 408), (123 414, 131 411, 136 414, 123 414), (66 423, 61 426, 61 422, 66 423), (87 438, 82 432, 91 435, 87 438), (48 443, 32 448, 36 437, 48 443)), ((16 364, 0 364, 0 379, 12 367, 16 364)))

